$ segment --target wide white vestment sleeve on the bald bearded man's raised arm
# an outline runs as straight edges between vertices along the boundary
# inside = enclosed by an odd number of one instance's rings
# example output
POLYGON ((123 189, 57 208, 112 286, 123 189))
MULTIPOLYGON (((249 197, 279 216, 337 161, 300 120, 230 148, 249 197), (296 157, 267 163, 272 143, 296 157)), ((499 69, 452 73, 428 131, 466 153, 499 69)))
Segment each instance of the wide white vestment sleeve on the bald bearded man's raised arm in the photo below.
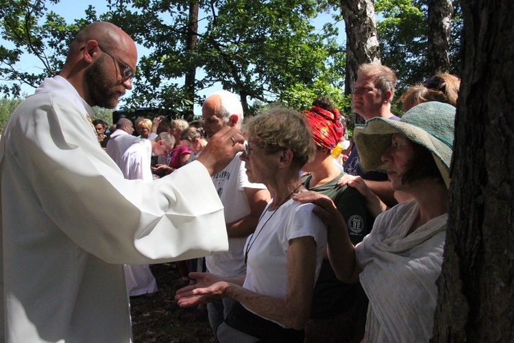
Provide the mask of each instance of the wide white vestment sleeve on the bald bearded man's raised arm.
MULTIPOLYGON (((228 249, 223 206, 201 163, 154 182, 125 180, 86 113, 50 93, 22 106, 2 137, 0 156, 8 161, 2 173, 12 196, 30 198, 19 204, 32 206, 23 211, 27 225, 44 217, 109 263, 157 263, 228 249)), ((26 230, 40 234, 40 228, 26 230)))

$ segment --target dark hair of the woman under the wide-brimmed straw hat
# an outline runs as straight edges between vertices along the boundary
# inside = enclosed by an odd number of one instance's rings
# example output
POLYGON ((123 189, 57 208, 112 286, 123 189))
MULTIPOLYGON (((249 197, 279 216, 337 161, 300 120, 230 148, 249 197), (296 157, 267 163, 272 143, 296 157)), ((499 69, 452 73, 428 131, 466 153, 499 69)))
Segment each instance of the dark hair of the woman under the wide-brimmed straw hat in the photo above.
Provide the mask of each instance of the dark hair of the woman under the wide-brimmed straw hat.
POLYGON ((444 182, 432 152, 423 145, 419 145, 416 142, 412 143, 414 158, 408 163, 406 171, 402 173, 402 185, 412 184, 417 180, 425 178, 435 178, 444 182))

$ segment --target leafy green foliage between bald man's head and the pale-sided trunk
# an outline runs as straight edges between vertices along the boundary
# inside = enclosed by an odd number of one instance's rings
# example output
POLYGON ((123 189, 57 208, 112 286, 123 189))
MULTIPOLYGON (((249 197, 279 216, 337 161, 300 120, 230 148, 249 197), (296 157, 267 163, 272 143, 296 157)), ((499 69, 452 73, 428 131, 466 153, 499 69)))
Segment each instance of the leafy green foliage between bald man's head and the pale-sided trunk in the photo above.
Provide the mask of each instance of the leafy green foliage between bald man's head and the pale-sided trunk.
MULTIPOLYGON (((330 24, 323 32, 315 32, 309 23, 317 15, 317 3, 200 1, 197 48, 188 51, 189 1, 110 1, 111 11, 106 14, 110 21, 151 49, 140 59, 138 86, 129 106, 170 108, 180 113, 187 98, 184 87, 175 80, 191 65, 202 71, 195 84, 197 92, 221 83, 250 103, 281 101, 284 89, 294 84, 341 86, 344 52, 335 43, 338 32, 330 24), (127 10, 130 5, 132 10, 127 10)), ((194 99, 197 103, 201 100, 194 99)))

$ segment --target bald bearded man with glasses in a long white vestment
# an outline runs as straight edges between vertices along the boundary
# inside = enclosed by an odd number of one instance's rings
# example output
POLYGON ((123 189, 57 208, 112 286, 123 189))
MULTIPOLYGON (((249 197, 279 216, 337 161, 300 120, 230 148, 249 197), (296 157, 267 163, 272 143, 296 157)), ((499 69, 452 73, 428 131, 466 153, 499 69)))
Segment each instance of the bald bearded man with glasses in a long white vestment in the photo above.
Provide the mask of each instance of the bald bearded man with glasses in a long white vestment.
POLYGON ((0 141, 0 340, 130 342, 123 263, 192 259, 228 249, 210 176, 243 150, 226 128, 193 163, 151 182, 125 180, 104 152, 92 106, 132 89, 136 45, 97 22, 69 47, 6 124, 0 141))

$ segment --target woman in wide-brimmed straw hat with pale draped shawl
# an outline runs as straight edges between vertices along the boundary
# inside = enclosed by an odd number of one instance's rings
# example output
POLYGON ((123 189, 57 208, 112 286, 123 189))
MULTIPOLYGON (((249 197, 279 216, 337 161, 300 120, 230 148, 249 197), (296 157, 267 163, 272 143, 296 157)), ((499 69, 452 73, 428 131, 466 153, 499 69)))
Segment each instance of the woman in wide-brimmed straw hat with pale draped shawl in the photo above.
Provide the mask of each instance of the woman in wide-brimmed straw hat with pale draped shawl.
POLYGON ((341 281, 360 279, 369 298, 365 342, 428 342, 437 300, 448 217, 448 169, 455 108, 419 104, 400 121, 374 118, 355 129, 366 170, 387 171, 393 189, 413 200, 378 215, 371 233, 354 247, 332 201, 314 192, 328 226, 329 258, 341 281))

